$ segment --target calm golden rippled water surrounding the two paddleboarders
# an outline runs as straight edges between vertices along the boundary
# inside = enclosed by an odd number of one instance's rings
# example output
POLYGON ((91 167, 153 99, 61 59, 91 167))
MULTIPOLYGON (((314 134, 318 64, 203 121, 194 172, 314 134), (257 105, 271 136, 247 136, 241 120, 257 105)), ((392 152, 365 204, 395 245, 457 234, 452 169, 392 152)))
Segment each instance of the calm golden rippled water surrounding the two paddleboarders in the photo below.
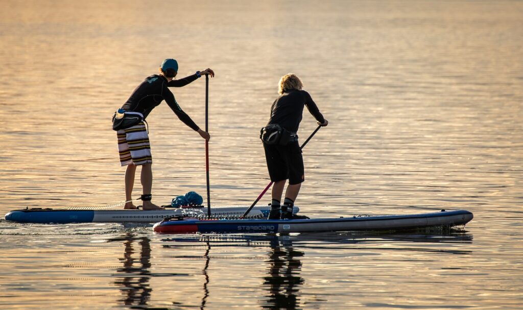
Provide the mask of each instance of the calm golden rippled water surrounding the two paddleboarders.
MULTIPOLYGON (((268 183, 258 130, 298 74, 325 117, 304 149, 311 217, 467 209, 464 231, 154 234, 0 221, 0 307, 518 309, 520 1, 0 1, 0 213, 110 205, 110 117, 164 58, 213 68, 211 201, 268 183)), ((174 89, 204 125, 204 80, 174 89)), ((154 200, 205 193, 204 144, 148 118, 154 200)), ((315 128, 305 112, 299 135, 315 128)), ((137 182, 136 189, 140 189, 137 182)), ((137 190, 136 197, 140 195, 137 190)), ((266 204, 268 196, 260 203, 266 204)))

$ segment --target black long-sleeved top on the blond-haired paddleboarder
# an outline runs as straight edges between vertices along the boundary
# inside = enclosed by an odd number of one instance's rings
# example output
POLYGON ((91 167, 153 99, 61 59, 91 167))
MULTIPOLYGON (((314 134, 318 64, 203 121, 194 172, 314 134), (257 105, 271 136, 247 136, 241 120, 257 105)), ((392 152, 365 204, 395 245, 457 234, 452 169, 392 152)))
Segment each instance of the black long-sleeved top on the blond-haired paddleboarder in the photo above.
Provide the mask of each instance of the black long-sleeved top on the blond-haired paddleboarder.
POLYGON ((279 124, 292 133, 298 132, 301 119, 303 117, 303 106, 307 106, 309 112, 316 118, 316 121, 325 123, 322 113, 311 98, 311 95, 304 90, 290 90, 278 97, 270 108, 269 124, 279 124))

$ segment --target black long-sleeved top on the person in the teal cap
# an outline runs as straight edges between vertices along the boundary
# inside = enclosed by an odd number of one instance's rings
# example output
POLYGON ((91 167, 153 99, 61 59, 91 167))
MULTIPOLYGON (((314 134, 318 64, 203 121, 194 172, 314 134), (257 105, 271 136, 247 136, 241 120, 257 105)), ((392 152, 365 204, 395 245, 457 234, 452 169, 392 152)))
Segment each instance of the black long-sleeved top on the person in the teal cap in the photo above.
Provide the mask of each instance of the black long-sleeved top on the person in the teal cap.
POLYGON ((143 117, 146 118, 156 106, 165 100, 180 121, 196 131, 199 129, 198 125, 191 120, 189 115, 181 110, 174 98, 174 94, 170 92, 168 87, 186 86, 197 78, 198 76, 194 74, 183 79, 167 82, 167 79, 161 75, 155 74, 147 77, 142 84, 133 91, 131 97, 129 97, 127 102, 122 106, 122 109, 125 111, 140 112, 143 114, 143 117))

